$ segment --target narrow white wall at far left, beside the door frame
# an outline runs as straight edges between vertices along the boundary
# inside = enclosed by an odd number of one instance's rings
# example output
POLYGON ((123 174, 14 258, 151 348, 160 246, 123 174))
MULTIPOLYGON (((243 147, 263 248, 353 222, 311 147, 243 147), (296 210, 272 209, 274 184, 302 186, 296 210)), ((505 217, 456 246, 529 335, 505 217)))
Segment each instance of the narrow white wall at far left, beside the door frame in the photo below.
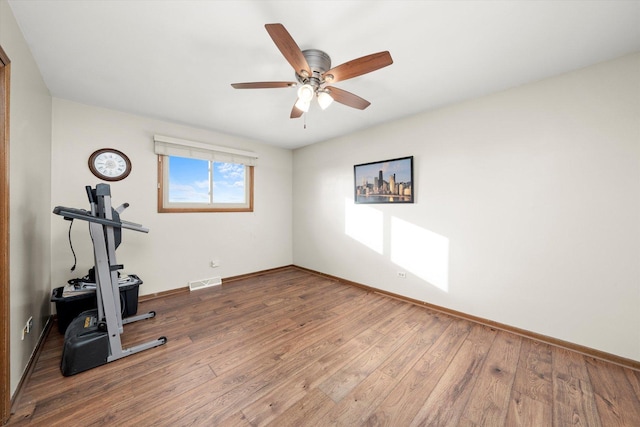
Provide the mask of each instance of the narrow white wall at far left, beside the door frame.
POLYGON ((0 44, 11 60, 10 306, 11 393, 49 318, 51 96, 5 0, 0 44), (34 329, 21 339, 27 319, 34 329))

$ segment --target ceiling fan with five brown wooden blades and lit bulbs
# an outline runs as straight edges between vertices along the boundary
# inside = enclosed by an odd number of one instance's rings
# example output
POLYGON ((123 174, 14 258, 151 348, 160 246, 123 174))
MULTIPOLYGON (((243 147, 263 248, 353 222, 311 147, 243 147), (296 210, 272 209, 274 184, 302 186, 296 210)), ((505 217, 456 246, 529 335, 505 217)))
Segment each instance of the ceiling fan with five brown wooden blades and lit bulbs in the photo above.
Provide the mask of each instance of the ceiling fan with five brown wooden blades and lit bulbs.
POLYGON ((289 32, 282 24, 266 24, 265 28, 280 49, 285 59, 291 64, 297 82, 251 82, 232 83, 235 89, 270 89, 298 87, 298 99, 291 109, 291 118, 302 116, 309 110, 314 97, 324 110, 333 101, 349 107, 364 110, 371 103, 346 90, 329 86, 342 80, 358 77, 393 64, 388 51, 373 53, 331 68, 331 58, 318 49, 300 50, 289 32))

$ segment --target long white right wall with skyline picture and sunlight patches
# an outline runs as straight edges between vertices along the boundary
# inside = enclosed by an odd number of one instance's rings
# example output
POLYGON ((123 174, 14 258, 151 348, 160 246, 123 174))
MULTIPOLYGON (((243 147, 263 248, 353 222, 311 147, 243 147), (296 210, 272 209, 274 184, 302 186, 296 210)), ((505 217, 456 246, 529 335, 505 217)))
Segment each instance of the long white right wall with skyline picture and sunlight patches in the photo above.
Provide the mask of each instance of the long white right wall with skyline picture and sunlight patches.
POLYGON ((639 123, 635 54, 298 149, 294 263, 640 360, 639 123), (408 155, 415 204, 353 204, 408 155))

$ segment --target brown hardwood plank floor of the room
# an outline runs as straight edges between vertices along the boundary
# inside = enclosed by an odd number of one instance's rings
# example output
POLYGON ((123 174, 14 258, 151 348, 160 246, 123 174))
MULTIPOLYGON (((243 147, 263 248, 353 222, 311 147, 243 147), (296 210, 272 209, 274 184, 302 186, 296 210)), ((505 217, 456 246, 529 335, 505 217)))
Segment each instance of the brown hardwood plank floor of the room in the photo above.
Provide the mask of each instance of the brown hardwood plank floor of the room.
POLYGON ((51 329, 9 425, 640 426, 640 372, 284 268, 139 304, 71 376, 51 329))

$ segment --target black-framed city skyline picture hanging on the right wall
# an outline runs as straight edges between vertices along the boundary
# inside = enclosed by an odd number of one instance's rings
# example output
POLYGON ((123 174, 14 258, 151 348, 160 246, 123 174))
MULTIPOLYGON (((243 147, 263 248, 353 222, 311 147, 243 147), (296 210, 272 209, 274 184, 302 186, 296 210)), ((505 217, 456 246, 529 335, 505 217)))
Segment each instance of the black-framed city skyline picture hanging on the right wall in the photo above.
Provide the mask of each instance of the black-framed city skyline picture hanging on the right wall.
POLYGON ((413 156, 353 167, 356 203, 413 203, 413 156))

